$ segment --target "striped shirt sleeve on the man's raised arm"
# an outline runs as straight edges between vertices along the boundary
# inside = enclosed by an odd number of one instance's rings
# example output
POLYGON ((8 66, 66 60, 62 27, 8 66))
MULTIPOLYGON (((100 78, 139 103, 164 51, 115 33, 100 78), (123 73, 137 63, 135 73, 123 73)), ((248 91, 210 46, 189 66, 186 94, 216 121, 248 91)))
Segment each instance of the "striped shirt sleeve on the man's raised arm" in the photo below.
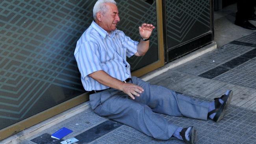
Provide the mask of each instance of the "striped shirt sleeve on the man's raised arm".
POLYGON ((126 48, 127 57, 131 57, 138 51, 137 45, 139 42, 132 40, 130 37, 126 36, 124 32, 120 31, 122 37, 122 46, 126 48))

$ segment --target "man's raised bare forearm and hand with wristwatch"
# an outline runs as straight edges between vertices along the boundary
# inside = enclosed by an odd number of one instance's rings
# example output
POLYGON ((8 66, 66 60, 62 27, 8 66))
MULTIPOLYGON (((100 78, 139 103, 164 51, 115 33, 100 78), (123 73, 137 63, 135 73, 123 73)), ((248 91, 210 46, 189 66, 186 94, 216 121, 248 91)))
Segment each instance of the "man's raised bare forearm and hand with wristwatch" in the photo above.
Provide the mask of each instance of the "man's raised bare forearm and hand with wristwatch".
MULTIPOLYGON (((152 31, 154 30, 154 26, 152 24, 142 24, 139 27, 139 35, 142 39, 149 39, 152 31)), ((136 56, 142 56, 145 55, 149 48, 149 41, 141 41, 137 45, 137 52, 136 56)))

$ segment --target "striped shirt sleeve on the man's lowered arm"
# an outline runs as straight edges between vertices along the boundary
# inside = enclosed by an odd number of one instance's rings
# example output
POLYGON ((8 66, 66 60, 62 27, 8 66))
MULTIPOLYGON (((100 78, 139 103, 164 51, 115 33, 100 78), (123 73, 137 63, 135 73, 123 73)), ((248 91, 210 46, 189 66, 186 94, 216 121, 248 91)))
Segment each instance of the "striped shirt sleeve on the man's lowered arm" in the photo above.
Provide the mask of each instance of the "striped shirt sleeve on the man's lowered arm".
POLYGON ((80 44, 80 46, 78 46, 78 49, 75 50, 74 55, 78 69, 83 78, 87 77, 93 72, 102 70, 99 48, 95 42, 83 42, 80 44))

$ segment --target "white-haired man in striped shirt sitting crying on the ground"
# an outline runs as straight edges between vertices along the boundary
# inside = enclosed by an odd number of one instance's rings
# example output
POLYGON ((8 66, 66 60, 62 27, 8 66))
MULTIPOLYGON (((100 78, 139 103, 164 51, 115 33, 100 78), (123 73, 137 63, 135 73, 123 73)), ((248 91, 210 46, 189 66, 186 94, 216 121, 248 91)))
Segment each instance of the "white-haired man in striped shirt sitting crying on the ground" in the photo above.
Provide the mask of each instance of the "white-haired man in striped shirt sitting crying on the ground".
POLYGON ((223 118, 232 98, 231 90, 210 103, 199 102, 131 76, 126 56, 145 55, 155 28, 152 24, 139 26, 141 40, 137 42, 117 30, 120 18, 114 0, 98 0, 93 17, 91 26, 77 41, 74 55, 84 89, 95 91, 90 95, 90 105, 95 113, 156 139, 168 140, 173 136, 191 144, 196 141, 193 126, 176 126, 156 113, 201 120, 207 120, 209 116, 215 122, 223 118))

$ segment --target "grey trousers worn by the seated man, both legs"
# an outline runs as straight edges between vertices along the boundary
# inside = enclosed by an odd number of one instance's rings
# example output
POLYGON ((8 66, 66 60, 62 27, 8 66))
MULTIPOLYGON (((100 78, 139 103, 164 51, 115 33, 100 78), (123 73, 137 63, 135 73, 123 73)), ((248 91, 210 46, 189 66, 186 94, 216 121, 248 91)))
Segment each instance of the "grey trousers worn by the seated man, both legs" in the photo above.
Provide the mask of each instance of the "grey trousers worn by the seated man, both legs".
POLYGON ((171 138, 178 126, 156 113, 207 120, 208 102, 194 100, 162 86, 150 85, 137 77, 132 77, 131 82, 144 89, 141 96, 132 100, 116 89, 91 94, 93 111, 160 140, 171 138))

